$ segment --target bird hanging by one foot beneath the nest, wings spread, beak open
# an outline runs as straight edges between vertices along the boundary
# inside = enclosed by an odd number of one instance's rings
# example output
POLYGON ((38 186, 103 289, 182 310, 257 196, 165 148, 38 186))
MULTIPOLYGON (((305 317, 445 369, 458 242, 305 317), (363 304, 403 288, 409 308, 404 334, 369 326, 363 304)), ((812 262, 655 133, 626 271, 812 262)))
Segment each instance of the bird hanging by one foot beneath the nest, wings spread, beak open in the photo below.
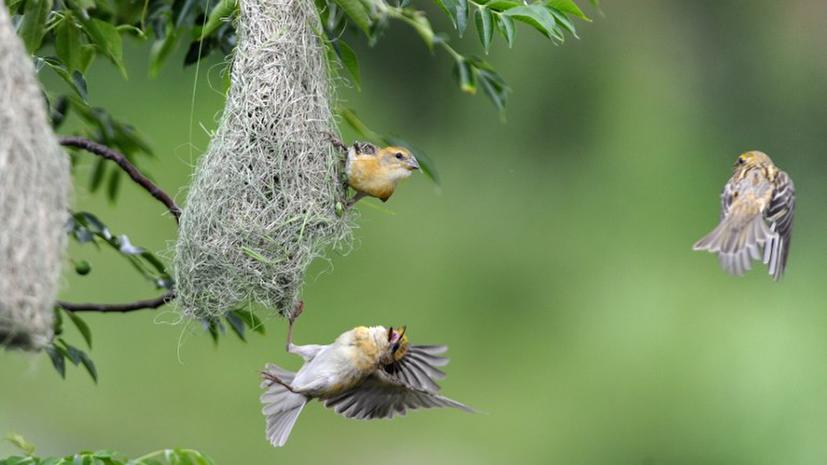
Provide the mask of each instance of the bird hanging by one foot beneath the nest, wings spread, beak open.
MULTIPOLYGON (((300 304, 301 305, 301 304, 300 304)), ((293 344, 289 320, 287 351, 304 359, 297 373, 267 364, 262 372, 262 413, 267 418, 267 439, 275 447, 287 442, 305 404, 319 399, 325 407, 347 418, 371 420, 404 415, 407 410, 470 407, 437 393, 436 380, 445 374, 437 367, 445 346, 410 345, 405 328, 359 326, 329 345, 293 344)))

